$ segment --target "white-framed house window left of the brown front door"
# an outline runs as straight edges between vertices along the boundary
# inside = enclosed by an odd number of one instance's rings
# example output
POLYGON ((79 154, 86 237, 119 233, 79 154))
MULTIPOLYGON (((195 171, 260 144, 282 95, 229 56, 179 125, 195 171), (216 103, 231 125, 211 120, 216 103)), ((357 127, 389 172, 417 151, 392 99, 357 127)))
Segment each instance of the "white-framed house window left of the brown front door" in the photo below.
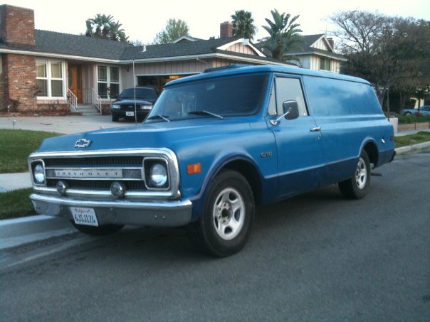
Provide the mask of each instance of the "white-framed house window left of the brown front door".
POLYGON ((58 60, 36 60, 36 85, 39 97, 64 97, 64 64, 58 60))

